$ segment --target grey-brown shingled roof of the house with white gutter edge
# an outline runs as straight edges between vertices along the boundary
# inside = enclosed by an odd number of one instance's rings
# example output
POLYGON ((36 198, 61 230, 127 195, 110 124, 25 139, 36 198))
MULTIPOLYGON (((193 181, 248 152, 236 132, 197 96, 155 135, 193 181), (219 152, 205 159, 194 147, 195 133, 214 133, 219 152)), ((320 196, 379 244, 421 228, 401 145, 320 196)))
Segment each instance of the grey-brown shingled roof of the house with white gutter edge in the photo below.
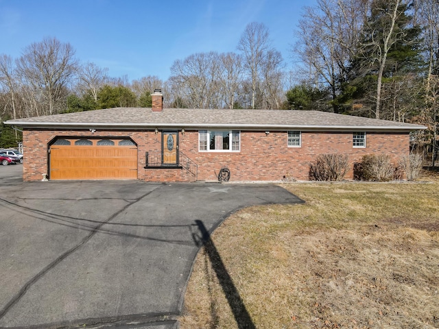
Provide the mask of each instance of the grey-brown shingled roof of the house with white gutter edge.
POLYGON ((400 123, 351 115, 303 110, 206 110, 164 108, 108 108, 88 112, 54 114, 45 117, 15 119, 5 122, 25 128, 108 128, 132 129, 215 129, 237 130, 339 130, 339 131, 411 131, 423 125, 400 123))

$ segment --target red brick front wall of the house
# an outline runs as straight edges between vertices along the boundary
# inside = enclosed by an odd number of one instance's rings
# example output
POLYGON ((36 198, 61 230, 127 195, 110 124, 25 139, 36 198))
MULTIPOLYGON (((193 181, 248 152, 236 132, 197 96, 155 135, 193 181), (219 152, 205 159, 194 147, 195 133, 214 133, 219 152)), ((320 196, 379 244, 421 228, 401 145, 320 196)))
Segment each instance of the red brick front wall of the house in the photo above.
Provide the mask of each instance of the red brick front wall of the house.
MULTIPOLYGON (((27 130, 23 132, 25 162, 23 180, 41 180, 49 173, 47 145, 57 136, 119 137, 128 136, 138 146, 138 179, 149 182, 190 182, 195 177, 185 169, 145 169, 145 152, 161 151, 161 132, 89 130, 27 130)), ((179 131, 180 151, 198 164, 198 180, 215 181, 222 167, 230 169, 230 182, 282 180, 289 175, 308 180, 309 164, 319 154, 349 155, 353 178, 353 163, 365 154, 388 154, 394 164, 403 154, 409 154, 408 133, 366 132, 366 147, 352 146, 352 132, 302 132, 301 147, 287 147, 287 132, 241 132, 239 152, 198 151, 198 131, 179 131)))

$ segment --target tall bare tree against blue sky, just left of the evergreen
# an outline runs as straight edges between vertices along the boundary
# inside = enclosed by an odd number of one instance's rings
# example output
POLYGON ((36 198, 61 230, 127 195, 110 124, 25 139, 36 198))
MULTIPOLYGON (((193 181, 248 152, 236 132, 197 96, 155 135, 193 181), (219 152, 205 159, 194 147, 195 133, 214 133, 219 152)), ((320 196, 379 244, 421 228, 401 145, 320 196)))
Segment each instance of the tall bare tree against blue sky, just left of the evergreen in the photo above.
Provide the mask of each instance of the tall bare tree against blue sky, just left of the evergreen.
MULTIPOLYGON (((308 84, 329 88, 331 99, 346 80, 347 66, 355 53, 368 8, 367 0, 318 0, 305 8, 293 49, 302 61, 308 84)), ((333 111, 338 112, 333 105, 333 111)))

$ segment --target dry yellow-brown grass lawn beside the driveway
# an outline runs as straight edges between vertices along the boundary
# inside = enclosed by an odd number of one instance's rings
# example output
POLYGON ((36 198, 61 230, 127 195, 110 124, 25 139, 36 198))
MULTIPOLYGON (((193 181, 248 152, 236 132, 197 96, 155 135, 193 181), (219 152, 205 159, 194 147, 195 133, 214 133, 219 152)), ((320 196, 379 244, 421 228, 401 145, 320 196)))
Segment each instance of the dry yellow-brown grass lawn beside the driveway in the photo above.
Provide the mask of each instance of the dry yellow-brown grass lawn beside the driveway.
POLYGON ((424 179, 288 183, 306 204, 235 213, 198 255, 180 328, 439 328, 439 180, 424 179))

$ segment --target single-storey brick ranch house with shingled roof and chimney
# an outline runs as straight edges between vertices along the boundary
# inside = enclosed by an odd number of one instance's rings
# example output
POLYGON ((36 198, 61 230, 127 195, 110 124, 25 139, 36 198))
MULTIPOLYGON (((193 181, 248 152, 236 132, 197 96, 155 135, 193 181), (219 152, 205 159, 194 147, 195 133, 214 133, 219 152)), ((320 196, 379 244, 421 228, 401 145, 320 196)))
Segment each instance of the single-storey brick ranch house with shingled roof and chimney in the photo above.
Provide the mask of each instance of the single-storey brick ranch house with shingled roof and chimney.
POLYGON ((109 108, 6 121, 23 128, 23 180, 217 181, 309 179, 319 154, 410 151, 410 132, 425 127, 318 111, 109 108))

